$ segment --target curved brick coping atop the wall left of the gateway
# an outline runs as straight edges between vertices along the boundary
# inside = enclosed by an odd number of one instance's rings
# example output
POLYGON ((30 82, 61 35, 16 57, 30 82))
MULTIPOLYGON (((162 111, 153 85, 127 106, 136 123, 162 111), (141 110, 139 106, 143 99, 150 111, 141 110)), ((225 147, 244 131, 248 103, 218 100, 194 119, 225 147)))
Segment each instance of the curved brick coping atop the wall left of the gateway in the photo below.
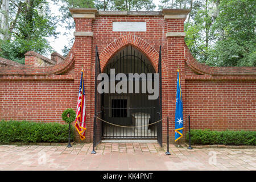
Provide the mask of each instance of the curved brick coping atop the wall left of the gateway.
POLYGON ((20 76, 46 76, 46 75, 59 75, 67 71, 68 68, 74 63, 75 59, 74 46, 69 51, 67 57, 61 63, 55 64, 50 67, 32 67, 30 65, 23 65, 21 67, 3 67, 0 68, 0 75, 20 75, 20 76))

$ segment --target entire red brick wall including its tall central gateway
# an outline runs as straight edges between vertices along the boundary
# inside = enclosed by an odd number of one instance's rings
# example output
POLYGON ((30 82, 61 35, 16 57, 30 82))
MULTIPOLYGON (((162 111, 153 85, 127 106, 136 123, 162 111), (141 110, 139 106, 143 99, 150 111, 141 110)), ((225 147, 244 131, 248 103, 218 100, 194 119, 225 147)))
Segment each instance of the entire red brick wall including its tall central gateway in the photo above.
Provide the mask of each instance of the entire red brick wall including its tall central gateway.
MULTIPOLYGON (((101 69, 104 69, 115 52, 132 45, 148 57, 157 71, 159 47, 162 46, 162 111, 163 117, 168 115, 170 118, 171 141, 174 140, 172 121, 175 119, 178 67, 184 118, 191 115, 192 129, 256 129, 255 67, 212 68, 193 59, 182 34, 166 36, 167 32, 183 32, 185 18, 177 18, 176 14, 184 15, 187 12, 170 10, 144 15, 133 13, 132 16, 129 13, 106 15, 104 12, 85 9, 73 9, 71 12, 76 23, 75 43, 63 61, 56 59, 56 65, 46 68, 28 65, 22 68, 0 68, 0 119, 62 122, 61 113, 64 109, 76 109, 80 73, 84 69, 85 142, 92 142, 95 47, 98 46, 100 53, 101 69), (80 15, 75 16, 76 13, 80 15), (171 18, 165 16, 167 13, 171 18), (147 22, 147 31, 113 32, 112 22, 118 21, 147 22), (13 114, 7 114, 12 109, 13 114), (14 114, 15 111, 17 114, 14 114)), ((188 123, 185 122, 184 126, 183 133, 187 131, 188 123)), ((166 142, 166 137, 167 123, 164 120, 163 142, 166 142)))

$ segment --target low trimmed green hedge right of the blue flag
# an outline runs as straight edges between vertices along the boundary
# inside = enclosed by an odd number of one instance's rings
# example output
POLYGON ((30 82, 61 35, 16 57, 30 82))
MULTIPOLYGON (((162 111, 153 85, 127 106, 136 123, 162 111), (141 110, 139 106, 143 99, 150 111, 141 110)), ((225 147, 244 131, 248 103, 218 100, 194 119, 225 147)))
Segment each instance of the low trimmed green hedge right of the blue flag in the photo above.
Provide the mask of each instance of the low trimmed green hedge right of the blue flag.
MULTIPOLYGON (((186 135, 187 141, 189 135, 186 135)), ((191 144, 256 145, 256 131, 191 130, 191 144)))

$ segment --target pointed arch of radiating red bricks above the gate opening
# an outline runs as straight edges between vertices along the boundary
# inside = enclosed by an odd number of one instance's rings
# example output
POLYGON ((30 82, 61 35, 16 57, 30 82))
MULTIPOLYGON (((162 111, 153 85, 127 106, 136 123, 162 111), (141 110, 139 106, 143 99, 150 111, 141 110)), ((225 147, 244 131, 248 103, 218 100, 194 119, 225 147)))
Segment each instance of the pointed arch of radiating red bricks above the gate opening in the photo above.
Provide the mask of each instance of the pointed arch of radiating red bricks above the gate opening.
POLYGON ((104 70, 105 65, 115 55, 115 53, 127 45, 132 45, 144 53, 144 55, 147 56, 151 61, 156 73, 158 72, 158 51, 156 51, 156 49, 148 44, 145 40, 134 35, 121 36, 105 47, 102 52, 100 52, 101 71, 104 70))

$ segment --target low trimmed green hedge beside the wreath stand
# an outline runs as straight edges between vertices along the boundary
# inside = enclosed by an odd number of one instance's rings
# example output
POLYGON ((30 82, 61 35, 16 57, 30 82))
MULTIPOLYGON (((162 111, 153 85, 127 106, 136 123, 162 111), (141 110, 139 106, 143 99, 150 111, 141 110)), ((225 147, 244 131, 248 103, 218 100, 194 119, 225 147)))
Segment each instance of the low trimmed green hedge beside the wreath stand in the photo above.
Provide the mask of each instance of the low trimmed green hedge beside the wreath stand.
MULTIPOLYGON (((74 138, 73 127, 71 140, 74 138)), ((0 142, 68 142, 68 125, 27 121, 0 121, 0 142)))

